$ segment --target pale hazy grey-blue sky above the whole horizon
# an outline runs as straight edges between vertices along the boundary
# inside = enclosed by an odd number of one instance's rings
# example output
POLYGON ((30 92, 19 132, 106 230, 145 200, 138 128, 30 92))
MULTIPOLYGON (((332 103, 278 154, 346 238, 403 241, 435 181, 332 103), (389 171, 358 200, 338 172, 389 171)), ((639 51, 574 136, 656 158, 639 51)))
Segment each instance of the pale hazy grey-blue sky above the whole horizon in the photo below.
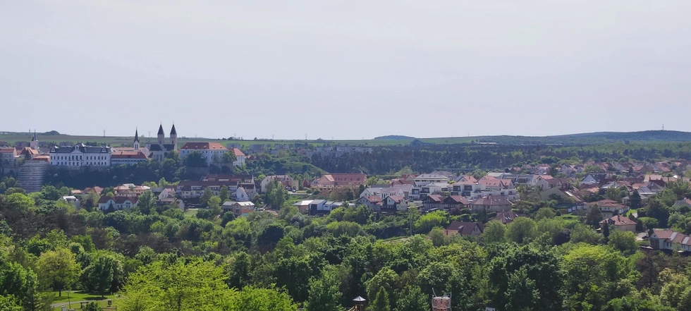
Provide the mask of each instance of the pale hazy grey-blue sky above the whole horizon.
POLYGON ((691 131, 689 0, 1 2, 0 130, 691 131))

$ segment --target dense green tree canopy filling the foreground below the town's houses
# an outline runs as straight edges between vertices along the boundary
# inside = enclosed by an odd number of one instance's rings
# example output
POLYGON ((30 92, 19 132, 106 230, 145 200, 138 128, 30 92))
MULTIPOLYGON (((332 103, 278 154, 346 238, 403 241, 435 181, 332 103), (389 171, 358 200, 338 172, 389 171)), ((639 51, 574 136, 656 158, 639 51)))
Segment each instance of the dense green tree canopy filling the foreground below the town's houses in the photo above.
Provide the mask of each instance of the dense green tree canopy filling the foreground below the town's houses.
MULTIPOLYGON (((451 293, 453 310, 691 310, 689 257, 598 233, 597 207, 561 215, 530 193, 529 217, 463 238, 445 234, 467 217, 453 211, 310 217, 286 200, 275 214, 234 217, 218 197, 190 214, 145 193, 137 207, 103 212, 75 209, 61 191, 0 196, 1 310, 51 310, 85 292, 125 311, 348 310, 357 296, 367 310, 422 311, 433 291, 451 293)), ((642 225, 691 228, 688 211, 668 204, 690 194, 680 185, 654 197, 639 212, 655 221, 642 225)))

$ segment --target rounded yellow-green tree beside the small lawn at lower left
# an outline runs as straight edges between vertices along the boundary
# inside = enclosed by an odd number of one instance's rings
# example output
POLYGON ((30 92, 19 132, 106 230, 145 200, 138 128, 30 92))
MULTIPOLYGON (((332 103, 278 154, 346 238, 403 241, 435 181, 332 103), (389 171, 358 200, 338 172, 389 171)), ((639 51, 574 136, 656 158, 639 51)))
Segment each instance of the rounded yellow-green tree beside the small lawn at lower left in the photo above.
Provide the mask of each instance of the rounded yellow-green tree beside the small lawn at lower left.
POLYGON ((70 288, 77 281, 81 268, 75 255, 67 248, 57 248, 44 252, 36 262, 39 279, 62 295, 63 289, 70 288))

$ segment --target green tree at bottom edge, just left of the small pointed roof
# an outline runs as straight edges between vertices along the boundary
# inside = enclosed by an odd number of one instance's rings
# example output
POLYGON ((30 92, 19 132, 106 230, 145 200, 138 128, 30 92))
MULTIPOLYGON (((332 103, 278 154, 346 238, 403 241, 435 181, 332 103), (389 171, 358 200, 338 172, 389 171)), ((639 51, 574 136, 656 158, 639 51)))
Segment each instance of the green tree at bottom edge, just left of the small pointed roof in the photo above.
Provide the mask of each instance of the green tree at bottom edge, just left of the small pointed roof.
POLYGON ((310 298, 305 302, 305 311, 343 310, 338 301, 341 300, 340 282, 333 273, 324 271, 320 278, 310 279, 310 298))

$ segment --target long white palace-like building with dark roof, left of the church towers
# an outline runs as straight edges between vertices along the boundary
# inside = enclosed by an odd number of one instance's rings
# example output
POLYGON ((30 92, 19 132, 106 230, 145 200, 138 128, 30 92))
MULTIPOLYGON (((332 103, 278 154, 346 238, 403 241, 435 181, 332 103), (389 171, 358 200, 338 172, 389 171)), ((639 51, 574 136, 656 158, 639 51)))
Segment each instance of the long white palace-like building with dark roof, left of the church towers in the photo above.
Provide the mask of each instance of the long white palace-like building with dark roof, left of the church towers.
POLYGON ((76 144, 72 147, 52 147, 49 156, 50 164, 55 166, 111 166, 111 147, 107 146, 76 144))

